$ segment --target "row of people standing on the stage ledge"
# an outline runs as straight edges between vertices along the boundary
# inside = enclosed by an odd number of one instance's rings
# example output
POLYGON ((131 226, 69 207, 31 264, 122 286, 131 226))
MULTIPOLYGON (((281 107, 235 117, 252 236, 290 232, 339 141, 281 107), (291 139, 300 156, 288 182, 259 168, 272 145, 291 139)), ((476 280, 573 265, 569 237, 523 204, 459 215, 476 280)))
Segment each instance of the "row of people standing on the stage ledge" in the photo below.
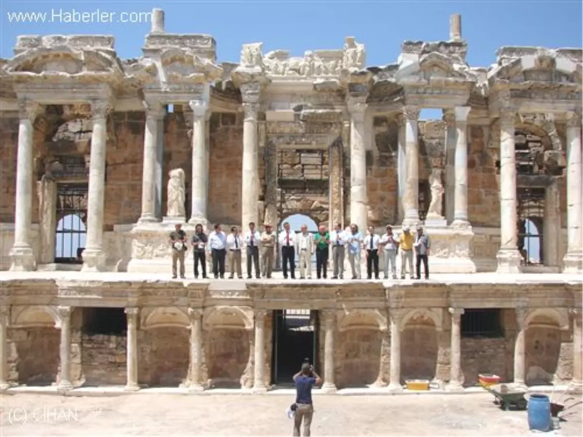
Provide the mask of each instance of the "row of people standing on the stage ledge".
MULTIPOLYGON (((316 256, 316 277, 328 277, 328 258, 332 255, 333 272, 331 279, 344 279, 344 262, 347 256, 352 273, 352 279, 361 279, 361 256, 366 256, 367 279, 380 279, 379 259, 384 253, 384 279, 397 279, 396 259, 401 256, 401 279, 405 279, 409 267, 410 279, 421 279, 421 265, 424 267, 424 277, 429 278, 428 256, 430 239, 417 227, 415 235, 409 227, 403 227, 403 232, 395 237, 391 225, 387 225, 383 235, 374 233, 372 226, 368 227, 367 234, 363 235, 356 224, 351 224, 345 230, 342 225, 336 224, 333 231, 320 226, 317 233, 308 231, 307 225, 302 225, 300 232, 291 230, 289 223, 283 224, 283 231, 276 235, 271 224, 264 225, 263 232, 257 231, 255 223, 249 224, 244 235, 237 227, 231 227, 227 235, 220 224, 215 224, 214 230, 207 236, 201 224, 196 225, 195 233, 190 239, 194 251, 194 277, 206 276, 206 255, 212 256, 213 274, 216 279, 223 279, 225 262, 230 272, 230 279, 237 274, 243 279, 241 268, 243 252, 247 256, 247 279, 264 277, 270 279, 275 263, 275 253, 278 246, 282 253, 282 270, 285 279, 296 279, 296 254, 299 263, 300 279, 312 278, 312 258, 316 256), (413 271, 415 254, 416 269, 413 271), (199 270, 200 266, 200 270, 199 270)), ((172 247, 172 273, 177 277, 180 264, 180 277, 185 278, 184 257, 188 249, 188 238, 180 224, 175 225, 171 232, 169 243, 172 247)))

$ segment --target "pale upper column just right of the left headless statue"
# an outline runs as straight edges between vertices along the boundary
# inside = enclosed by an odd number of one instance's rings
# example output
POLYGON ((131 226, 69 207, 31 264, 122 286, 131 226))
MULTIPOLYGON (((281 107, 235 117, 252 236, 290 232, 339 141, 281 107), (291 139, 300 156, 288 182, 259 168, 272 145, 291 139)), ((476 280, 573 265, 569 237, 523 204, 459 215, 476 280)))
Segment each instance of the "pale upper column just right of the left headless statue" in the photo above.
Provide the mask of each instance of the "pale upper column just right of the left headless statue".
POLYGON ((208 218, 206 179, 209 174, 206 163, 206 115, 209 104, 206 100, 191 100, 188 104, 194 117, 192 123, 192 208, 188 223, 202 223, 206 226, 208 218))

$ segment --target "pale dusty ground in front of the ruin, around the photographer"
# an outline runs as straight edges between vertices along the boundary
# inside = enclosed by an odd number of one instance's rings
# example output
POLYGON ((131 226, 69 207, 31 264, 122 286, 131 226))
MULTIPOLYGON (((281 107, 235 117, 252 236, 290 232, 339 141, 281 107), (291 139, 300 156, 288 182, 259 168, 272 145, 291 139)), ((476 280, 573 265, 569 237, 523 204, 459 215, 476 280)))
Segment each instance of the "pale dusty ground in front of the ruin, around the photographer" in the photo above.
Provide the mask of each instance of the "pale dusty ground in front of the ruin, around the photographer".
MULTIPOLYGON (((583 400, 579 396, 577 400, 583 400)), ((6 436, 290 436, 292 396, 152 394, 0 398, 6 436)), ((501 411, 490 394, 316 396, 313 436, 531 435, 526 411, 501 411)), ((581 435, 583 405, 547 435, 581 435)))

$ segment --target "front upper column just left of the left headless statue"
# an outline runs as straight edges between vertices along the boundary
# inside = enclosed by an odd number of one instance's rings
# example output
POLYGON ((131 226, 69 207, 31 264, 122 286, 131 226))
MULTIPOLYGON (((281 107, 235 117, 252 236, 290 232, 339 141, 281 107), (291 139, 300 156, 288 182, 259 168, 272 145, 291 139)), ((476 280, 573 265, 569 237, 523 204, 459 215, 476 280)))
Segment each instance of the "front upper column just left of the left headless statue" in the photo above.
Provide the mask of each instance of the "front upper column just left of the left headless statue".
POLYGON ((144 133, 144 155, 142 175, 142 215, 138 223, 155 223, 156 216, 156 167, 158 158, 159 121, 164 117, 162 105, 152 103, 146 105, 146 130, 144 133))

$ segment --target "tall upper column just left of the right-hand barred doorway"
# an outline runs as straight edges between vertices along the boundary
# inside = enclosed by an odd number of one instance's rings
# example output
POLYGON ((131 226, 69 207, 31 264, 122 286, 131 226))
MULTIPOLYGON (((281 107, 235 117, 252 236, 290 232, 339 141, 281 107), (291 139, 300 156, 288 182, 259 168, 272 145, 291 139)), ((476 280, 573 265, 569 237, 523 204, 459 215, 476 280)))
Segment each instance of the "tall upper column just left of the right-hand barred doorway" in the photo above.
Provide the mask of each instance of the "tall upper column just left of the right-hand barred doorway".
POLYGON ((500 112, 500 249, 497 273, 520 273, 518 252, 514 111, 500 112))

